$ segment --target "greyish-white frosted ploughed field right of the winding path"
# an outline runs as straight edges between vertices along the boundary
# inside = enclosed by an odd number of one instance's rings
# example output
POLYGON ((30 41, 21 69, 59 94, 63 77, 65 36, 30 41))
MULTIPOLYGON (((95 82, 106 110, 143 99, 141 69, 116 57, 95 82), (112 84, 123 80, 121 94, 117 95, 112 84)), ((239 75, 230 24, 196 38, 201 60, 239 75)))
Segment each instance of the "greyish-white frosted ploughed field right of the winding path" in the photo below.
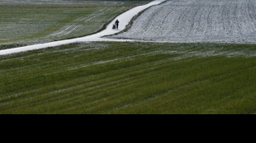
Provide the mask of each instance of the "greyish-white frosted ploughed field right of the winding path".
POLYGON ((111 38, 255 44, 256 1, 169 0, 150 7, 130 30, 111 38))

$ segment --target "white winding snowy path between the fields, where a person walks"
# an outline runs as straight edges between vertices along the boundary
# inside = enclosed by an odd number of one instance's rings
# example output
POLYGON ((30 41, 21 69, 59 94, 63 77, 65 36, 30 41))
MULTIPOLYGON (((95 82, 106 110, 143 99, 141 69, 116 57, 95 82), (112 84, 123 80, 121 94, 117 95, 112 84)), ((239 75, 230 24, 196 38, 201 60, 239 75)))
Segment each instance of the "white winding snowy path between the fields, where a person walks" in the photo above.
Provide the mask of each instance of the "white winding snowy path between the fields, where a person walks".
POLYGON ((85 37, 81 38, 76 38, 76 39, 65 39, 65 40, 59 40, 55 42, 50 42, 50 43, 45 43, 45 44, 35 44, 35 45, 29 45, 29 46, 24 46, 24 47, 19 47, 19 48, 9 48, 9 49, 4 49, 0 50, 0 55, 7 55, 7 54, 13 54, 13 53, 21 53, 21 52, 26 52, 26 51, 31 51, 31 50, 36 50, 40 48, 50 48, 50 47, 55 47, 59 45, 64 45, 64 44, 73 44, 73 43, 79 43, 79 42, 92 42, 92 41, 134 41, 131 39, 106 39, 102 38, 103 36, 106 35, 113 35, 121 30, 126 29, 126 25, 129 24, 131 19, 136 16, 138 13, 142 12, 148 7, 158 5, 161 2, 164 2, 166 0, 154 0, 153 2, 149 2, 146 5, 139 6, 139 7, 134 7, 130 9, 129 11, 121 14, 120 16, 117 16, 115 20, 111 21, 109 25, 107 25, 106 30, 102 30, 101 32, 95 34, 95 35, 88 35, 85 37), (112 25, 114 22, 118 19, 120 21, 120 26, 119 30, 112 30, 112 25))

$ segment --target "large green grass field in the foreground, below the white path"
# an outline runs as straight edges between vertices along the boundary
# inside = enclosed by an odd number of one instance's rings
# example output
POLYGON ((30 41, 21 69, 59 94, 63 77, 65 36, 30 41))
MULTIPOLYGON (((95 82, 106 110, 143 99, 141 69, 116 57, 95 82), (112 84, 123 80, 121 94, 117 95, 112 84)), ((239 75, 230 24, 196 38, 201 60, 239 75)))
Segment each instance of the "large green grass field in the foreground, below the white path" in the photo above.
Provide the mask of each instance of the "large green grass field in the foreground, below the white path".
POLYGON ((254 44, 71 44, 0 57, 0 113, 256 113, 254 44))

